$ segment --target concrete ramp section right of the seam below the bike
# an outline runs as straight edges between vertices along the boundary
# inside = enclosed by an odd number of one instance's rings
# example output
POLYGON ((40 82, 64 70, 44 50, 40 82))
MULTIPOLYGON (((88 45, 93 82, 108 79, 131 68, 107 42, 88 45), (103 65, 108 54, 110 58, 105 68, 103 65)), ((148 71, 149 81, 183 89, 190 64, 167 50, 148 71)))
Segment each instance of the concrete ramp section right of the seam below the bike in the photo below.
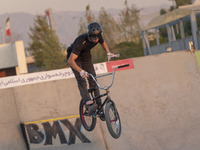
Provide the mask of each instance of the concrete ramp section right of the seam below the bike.
POLYGON ((104 128, 109 148, 198 150, 200 70, 195 54, 167 53, 133 62, 133 70, 117 72, 112 89, 123 130, 114 141, 104 128))

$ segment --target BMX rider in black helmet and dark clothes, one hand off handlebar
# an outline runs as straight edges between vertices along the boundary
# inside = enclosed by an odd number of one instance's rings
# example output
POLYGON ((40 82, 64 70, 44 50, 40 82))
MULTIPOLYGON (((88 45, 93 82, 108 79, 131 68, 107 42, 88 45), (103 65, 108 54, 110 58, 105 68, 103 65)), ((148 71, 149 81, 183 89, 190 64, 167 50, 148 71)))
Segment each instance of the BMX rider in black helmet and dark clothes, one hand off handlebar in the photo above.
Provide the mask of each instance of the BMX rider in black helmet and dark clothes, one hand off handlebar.
MULTIPOLYGON (((101 25, 97 22, 92 22, 87 27, 87 33, 79 35, 75 41, 67 48, 67 62, 69 63, 75 78, 77 80, 78 88, 82 99, 89 106, 89 113, 92 110, 96 110, 101 105, 101 99, 97 99, 96 103, 93 104, 91 97, 87 90, 88 79, 89 87, 96 87, 96 83, 91 77, 88 77, 88 73, 96 76, 94 66, 91 59, 91 49, 100 43, 103 49, 106 51, 108 61, 111 57, 118 57, 118 55, 112 54, 102 37, 103 30, 101 25)), ((94 91, 95 96, 100 95, 99 89, 96 88, 94 91)), ((103 110, 102 115, 104 117, 103 110)))

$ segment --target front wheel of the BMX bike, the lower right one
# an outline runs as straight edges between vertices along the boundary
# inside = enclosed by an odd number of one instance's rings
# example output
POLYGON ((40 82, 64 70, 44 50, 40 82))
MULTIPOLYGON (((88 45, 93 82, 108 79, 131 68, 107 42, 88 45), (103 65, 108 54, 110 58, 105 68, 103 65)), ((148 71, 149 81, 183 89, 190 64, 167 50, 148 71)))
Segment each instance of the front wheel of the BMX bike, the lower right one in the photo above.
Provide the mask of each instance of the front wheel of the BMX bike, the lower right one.
POLYGON ((113 101, 106 104, 105 119, 110 135, 115 139, 119 138, 121 135, 121 121, 113 101))

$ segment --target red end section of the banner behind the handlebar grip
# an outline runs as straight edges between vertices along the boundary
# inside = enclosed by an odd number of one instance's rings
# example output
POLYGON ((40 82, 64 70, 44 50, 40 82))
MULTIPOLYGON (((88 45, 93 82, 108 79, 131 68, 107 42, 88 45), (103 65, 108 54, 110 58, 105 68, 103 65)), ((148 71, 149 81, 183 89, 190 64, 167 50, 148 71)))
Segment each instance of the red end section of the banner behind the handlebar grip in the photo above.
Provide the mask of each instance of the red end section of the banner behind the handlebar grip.
POLYGON ((117 69, 117 71, 134 68, 133 59, 123 59, 123 60, 117 60, 117 61, 110 61, 106 63, 108 72, 112 72, 115 67, 125 65, 125 64, 129 64, 129 66, 117 69))

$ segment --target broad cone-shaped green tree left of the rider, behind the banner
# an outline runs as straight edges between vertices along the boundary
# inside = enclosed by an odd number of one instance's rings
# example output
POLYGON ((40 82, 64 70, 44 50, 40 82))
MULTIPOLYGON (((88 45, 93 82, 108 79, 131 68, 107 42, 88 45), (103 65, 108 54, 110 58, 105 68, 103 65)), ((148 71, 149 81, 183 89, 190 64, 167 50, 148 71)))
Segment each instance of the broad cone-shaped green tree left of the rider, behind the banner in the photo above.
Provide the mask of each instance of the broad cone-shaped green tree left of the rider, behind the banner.
POLYGON ((59 39, 49 28, 45 16, 36 16, 34 27, 30 28, 29 48, 34 56, 35 65, 45 70, 60 69, 65 66, 65 57, 61 53, 59 39))

